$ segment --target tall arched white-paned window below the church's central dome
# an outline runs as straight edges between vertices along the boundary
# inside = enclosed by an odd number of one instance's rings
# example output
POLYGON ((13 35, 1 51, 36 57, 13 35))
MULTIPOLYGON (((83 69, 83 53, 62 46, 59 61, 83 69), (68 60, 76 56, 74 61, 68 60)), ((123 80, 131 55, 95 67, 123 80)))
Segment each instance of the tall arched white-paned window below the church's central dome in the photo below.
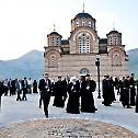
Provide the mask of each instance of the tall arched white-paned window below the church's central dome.
POLYGON ((90 36, 88 34, 80 34, 78 37, 79 54, 90 53, 90 36))

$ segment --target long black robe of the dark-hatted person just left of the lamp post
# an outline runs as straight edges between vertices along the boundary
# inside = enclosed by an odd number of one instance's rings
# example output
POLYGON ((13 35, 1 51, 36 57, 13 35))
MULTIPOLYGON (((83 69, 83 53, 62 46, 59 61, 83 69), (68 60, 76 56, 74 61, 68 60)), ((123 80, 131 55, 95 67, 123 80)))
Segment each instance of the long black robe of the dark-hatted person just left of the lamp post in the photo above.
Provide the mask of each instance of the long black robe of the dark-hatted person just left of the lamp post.
POLYGON ((81 83, 81 112, 94 113, 96 111, 94 105, 93 93, 96 83, 93 80, 83 81, 81 83), (89 87, 89 88, 88 88, 89 87))

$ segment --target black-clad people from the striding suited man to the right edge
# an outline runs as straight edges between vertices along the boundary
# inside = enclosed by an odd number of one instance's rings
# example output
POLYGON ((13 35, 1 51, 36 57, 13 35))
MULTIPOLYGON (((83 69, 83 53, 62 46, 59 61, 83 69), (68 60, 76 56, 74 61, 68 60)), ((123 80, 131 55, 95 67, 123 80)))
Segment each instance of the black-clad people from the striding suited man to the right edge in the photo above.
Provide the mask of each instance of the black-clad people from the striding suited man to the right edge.
MULTIPOLYGON (((39 90, 42 92, 42 100, 44 102, 44 113, 48 117, 48 104, 50 95, 54 97, 54 106, 64 107, 67 100, 67 113, 79 114, 80 112, 95 113, 97 108, 94 104, 93 92, 95 91, 96 83, 91 79, 90 74, 81 76, 80 78, 71 77, 70 80, 61 80, 50 82, 48 74, 45 73, 44 79, 39 81, 39 90)), ((105 106, 111 106, 116 101, 116 94, 124 107, 131 108, 136 106, 138 112, 138 95, 137 95, 138 81, 131 76, 123 77, 122 79, 113 79, 105 76, 102 80, 102 97, 105 106)))

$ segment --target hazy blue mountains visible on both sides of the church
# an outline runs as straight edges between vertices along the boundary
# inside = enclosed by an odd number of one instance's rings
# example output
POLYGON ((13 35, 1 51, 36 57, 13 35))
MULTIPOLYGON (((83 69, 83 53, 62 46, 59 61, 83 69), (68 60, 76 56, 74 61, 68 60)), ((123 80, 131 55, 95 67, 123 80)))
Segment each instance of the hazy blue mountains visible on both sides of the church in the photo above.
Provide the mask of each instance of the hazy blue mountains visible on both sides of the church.
MULTIPOLYGON (((128 50, 129 72, 138 78, 138 48, 128 50)), ((32 78, 38 80, 44 73, 44 53, 31 50, 22 57, 13 60, 0 60, 0 79, 5 78, 32 78)))

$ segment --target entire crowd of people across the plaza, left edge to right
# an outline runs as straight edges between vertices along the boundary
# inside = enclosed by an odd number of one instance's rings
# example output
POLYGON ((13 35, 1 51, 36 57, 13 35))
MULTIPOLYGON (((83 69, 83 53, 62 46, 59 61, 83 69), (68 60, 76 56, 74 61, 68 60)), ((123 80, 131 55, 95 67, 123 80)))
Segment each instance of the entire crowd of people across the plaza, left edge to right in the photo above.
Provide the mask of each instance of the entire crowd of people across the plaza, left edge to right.
MULTIPOLYGON (((110 76, 105 76, 102 80, 102 104, 111 106, 116 101, 115 92, 117 92, 122 105, 127 108, 136 106, 136 112, 138 113, 137 88, 138 81, 134 79, 134 73, 122 79, 113 79, 110 76)), ((59 76, 56 82, 48 78, 48 73, 45 73, 38 82, 36 80, 32 81, 31 78, 22 80, 5 79, 0 81, 0 103, 2 94, 4 96, 16 94, 16 101, 26 101, 26 94, 38 93, 39 90, 39 108, 42 108, 43 103, 46 117, 48 117, 48 105, 51 96, 54 96, 53 106, 66 106, 67 113, 95 113, 97 111, 93 97, 95 89, 96 82, 90 74, 67 79, 62 79, 59 76), (65 105, 66 103, 67 105, 65 105)))

